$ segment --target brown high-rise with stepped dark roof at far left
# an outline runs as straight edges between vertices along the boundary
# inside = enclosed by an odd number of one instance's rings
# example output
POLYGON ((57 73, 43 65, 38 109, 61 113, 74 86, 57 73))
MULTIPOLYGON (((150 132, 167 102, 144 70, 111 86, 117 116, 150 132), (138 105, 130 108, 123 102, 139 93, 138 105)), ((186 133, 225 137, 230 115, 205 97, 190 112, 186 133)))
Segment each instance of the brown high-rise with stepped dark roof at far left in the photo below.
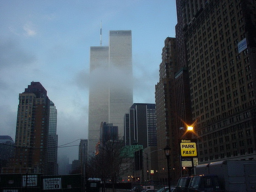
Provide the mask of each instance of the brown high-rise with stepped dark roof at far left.
POLYGON ((50 100, 40 82, 19 94, 14 158, 4 173, 47 174, 50 100))

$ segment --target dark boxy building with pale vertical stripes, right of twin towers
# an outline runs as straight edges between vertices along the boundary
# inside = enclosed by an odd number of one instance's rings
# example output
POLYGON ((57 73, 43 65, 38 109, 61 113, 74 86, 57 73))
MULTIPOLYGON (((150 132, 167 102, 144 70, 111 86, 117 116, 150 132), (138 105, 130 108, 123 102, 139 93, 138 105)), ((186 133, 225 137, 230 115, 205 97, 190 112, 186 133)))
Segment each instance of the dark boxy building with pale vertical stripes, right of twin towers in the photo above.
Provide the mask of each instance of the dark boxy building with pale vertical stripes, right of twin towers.
POLYGON ((124 118, 125 145, 156 146, 156 105, 134 103, 124 118))

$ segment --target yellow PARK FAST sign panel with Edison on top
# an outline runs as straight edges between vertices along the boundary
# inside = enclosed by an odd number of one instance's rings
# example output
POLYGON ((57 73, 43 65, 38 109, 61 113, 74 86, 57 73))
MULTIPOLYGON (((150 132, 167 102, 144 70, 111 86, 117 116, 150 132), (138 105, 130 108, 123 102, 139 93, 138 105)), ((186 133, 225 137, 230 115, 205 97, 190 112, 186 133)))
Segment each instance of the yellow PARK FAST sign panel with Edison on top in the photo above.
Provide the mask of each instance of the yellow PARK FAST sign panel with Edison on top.
POLYGON ((191 140, 181 140, 181 156, 197 156, 197 144, 191 140))

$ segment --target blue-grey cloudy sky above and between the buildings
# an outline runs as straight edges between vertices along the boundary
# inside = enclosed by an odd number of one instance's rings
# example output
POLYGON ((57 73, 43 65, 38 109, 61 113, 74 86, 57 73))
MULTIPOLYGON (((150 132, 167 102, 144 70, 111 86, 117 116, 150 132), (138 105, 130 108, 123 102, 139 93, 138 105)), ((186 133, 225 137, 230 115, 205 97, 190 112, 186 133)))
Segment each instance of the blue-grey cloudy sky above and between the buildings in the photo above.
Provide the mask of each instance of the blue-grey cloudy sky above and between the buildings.
MULTIPOLYGON (((15 139, 19 93, 39 81, 58 110, 59 145, 88 138, 90 46, 132 30, 134 102, 154 103, 161 51, 175 37, 175 0, 1 0, 0 135, 15 139)), ((79 141, 72 145, 78 145, 79 141)), ((78 147, 59 148, 70 162, 78 147)))

